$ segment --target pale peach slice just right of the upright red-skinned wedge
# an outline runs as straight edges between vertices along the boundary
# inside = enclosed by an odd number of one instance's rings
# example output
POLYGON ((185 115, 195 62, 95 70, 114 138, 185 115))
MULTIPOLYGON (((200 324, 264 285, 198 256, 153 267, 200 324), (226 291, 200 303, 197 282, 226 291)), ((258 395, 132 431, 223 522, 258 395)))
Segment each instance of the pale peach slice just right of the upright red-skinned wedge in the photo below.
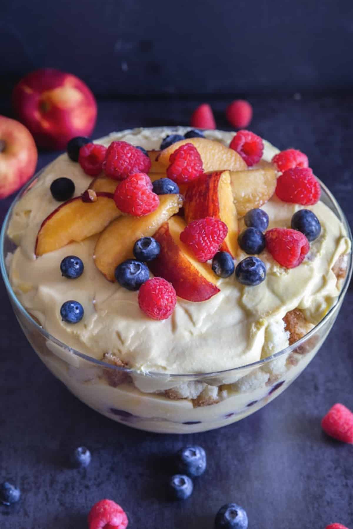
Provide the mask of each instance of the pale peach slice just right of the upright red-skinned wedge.
POLYGON ((265 204, 274 194, 276 182, 273 168, 232 171, 230 183, 238 216, 243 217, 249 209, 265 204))

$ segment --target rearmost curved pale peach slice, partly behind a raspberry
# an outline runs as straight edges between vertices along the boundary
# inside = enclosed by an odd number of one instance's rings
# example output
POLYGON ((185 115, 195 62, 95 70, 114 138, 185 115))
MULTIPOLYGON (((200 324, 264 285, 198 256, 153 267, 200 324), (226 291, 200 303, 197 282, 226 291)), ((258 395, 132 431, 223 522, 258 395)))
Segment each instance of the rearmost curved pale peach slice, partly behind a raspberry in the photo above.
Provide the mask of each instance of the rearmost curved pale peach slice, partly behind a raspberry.
POLYGON ((170 145, 167 149, 160 152, 157 158, 158 164, 164 166, 166 170, 169 166, 170 154, 185 143, 192 143, 194 147, 196 147, 201 156, 203 170, 205 172, 223 171, 225 169, 228 169, 229 171, 247 169, 245 161, 241 158, 238 152, 229 149, 229 147, 225 147, 225 145, 219 141, 206 140, 206 138, 190 138, 173 143, 173 145, 170 145))

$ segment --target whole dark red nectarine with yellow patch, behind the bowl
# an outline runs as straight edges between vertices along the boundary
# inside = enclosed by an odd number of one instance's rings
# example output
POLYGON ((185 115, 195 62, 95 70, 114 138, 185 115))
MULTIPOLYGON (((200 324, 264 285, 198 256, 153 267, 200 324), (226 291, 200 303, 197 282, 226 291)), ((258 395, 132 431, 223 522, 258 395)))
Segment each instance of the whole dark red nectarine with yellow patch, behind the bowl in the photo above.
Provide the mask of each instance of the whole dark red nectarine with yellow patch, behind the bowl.
POLYGON ((90 136, 96 123, 97 104, 88 86, 53 68, 23 77, 13 89, 12 102, 39 147, 65 149, 74 136, 90 136))

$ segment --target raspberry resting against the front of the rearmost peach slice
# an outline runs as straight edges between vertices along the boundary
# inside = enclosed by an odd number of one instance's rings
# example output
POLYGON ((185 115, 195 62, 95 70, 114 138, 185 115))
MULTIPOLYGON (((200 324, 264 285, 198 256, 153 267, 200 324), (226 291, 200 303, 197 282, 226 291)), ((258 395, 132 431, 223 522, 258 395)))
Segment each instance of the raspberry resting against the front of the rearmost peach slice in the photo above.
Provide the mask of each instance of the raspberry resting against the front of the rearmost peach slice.
POLYGON ((198 178, 203 172, 203 163, 192 143, 185 143, 169 156, 167 177, 177 184, 185 184, 198 178))

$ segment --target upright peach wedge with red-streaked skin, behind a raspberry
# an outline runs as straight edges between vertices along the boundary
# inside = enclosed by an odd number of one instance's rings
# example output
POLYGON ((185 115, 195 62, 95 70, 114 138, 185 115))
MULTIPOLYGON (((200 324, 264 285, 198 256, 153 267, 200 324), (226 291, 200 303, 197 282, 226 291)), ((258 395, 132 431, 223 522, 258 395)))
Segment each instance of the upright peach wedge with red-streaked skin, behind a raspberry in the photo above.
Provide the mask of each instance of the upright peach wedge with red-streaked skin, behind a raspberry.
POLYGON ((233 258, 237 256, 238 216, 229 171, 215 171, 192 181, 187 187, 184 211, 187 224, 204 217, 219 218, 227 224, 228 234, 221 250, 233 258))

